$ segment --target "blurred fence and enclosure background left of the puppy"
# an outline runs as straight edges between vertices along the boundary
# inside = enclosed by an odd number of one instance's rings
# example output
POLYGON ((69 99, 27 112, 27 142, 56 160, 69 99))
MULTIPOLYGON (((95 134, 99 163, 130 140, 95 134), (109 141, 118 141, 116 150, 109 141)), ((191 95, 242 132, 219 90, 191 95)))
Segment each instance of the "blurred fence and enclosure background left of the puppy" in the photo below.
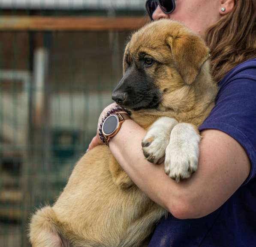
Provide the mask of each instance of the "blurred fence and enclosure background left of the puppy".
POLYGON ((145 0, 0 0, 0 247, 27 247, 122 76, 145 0))

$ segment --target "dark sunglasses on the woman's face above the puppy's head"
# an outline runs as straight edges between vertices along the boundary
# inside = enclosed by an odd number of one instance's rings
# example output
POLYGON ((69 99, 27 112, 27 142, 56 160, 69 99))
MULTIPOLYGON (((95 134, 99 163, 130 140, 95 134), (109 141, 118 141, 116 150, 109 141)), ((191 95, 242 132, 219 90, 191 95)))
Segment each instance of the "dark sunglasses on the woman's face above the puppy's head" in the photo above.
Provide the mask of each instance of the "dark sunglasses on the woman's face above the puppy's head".
POLYGON ((152 15, 158 5, 165 14, 170 14, 175 10, 175 0, 147 0, 146 10, 151 20, 153 20, 152 15))

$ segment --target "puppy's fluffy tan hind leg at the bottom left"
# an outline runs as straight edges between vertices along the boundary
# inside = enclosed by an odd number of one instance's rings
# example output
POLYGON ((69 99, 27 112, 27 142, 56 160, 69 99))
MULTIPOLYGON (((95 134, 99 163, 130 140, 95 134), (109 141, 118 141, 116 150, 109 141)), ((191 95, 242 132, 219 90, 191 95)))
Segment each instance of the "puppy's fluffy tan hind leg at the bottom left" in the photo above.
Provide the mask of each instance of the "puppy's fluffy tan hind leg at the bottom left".
POLYGON ((59 221, 50 206, 39 209, 30 222, 29 238, 33 247, 69 247, 60 237, 59 221))

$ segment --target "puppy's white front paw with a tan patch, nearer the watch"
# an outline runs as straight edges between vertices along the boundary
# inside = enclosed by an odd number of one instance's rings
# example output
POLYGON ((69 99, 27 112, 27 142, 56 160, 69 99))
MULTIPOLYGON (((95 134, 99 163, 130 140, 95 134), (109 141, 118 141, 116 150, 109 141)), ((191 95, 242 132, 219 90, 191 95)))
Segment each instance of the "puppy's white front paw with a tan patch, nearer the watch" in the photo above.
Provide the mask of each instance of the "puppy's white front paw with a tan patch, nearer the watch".
POLYGON ((170 140, 172 128, 178 124, 174 118, 159 118, 148 130, 142 140, 142 150, 145 158, 154 164, 160 164, 165 159, 166 146, 170 140))

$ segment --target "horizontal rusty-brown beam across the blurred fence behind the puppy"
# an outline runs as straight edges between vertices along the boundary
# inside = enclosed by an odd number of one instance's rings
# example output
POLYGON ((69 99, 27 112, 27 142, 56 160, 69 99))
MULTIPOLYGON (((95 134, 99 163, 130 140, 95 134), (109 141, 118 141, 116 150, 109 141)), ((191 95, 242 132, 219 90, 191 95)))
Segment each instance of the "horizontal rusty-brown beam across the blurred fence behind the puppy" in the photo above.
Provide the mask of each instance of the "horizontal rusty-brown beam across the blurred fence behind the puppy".
POLYGON ((134 30, 142 27, 149 18, 140 17, 48 17, 2 16, 0 31, 107 31, 134 30))

